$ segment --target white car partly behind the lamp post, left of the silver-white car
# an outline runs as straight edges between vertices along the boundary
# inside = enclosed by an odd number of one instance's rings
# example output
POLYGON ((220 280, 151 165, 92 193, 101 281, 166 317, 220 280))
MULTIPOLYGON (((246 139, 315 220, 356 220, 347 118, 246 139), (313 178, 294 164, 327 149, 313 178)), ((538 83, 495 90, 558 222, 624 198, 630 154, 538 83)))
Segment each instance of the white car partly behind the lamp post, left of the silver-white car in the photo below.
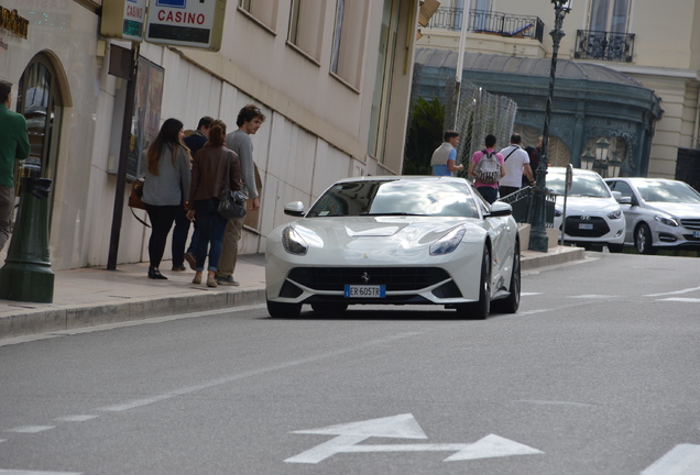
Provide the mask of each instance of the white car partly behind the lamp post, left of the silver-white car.
MULTIPOLYGON (((565 167, 547 168, 547 188, 557 196, 554 227, 561 231, 564 214, 565 167)), ((582 247, 608 246, 622 252, 625 220, 620 203, 595 172, 573 168, 571 189, 567 196, 566 244, 582 247)))

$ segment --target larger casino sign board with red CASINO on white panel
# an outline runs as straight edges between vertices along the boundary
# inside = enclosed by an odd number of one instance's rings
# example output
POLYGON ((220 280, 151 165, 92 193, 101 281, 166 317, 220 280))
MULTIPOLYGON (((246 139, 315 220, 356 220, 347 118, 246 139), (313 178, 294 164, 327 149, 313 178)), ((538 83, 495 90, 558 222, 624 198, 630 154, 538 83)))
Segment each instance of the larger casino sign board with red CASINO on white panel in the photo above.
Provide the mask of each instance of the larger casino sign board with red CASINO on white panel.
POLYGON ((151 0, 149 43, 219 51, 226 0, 151 0))

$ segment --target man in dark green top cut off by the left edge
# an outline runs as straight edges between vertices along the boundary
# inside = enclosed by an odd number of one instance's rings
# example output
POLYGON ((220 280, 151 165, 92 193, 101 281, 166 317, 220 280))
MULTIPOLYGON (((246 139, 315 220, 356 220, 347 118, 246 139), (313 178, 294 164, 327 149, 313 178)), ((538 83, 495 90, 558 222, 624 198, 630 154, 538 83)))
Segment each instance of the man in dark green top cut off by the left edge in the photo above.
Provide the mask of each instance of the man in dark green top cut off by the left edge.
POLYGON ((14 163, 30 153, 24 115, 10 110, 12 85, 0 80, 0 251, 10 239, 14 208, 14 163))

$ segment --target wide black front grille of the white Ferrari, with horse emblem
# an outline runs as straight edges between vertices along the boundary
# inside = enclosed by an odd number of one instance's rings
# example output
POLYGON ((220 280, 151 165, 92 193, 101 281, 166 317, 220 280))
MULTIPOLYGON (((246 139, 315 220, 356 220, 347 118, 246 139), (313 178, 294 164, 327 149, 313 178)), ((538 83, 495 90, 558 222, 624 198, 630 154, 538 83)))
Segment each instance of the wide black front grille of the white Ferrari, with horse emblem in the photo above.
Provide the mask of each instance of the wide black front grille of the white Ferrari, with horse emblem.
POLYGON ((288 279, 315 290, 343 290, 346 285, 419 290, 448 278, 447 272, 438 267, 297 267, 288 275, 288 279))

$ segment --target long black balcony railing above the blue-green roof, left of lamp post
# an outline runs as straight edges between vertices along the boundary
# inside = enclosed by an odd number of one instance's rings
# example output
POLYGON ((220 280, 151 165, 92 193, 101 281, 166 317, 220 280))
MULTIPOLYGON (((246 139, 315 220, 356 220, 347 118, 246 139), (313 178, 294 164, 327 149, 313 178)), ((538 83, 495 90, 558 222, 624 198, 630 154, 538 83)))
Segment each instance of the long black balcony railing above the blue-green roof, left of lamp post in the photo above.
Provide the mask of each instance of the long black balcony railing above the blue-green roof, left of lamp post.
MULTIPOLYGON (((460 31, 463 14, 463 9, 440 7, 433 14, 428 27, 460 31)), ((538 16, 515 16, 482 10, 471 10, 467 23, 468 32, 534 38, 540 43, 544 30, 545 23, 538 16)))

